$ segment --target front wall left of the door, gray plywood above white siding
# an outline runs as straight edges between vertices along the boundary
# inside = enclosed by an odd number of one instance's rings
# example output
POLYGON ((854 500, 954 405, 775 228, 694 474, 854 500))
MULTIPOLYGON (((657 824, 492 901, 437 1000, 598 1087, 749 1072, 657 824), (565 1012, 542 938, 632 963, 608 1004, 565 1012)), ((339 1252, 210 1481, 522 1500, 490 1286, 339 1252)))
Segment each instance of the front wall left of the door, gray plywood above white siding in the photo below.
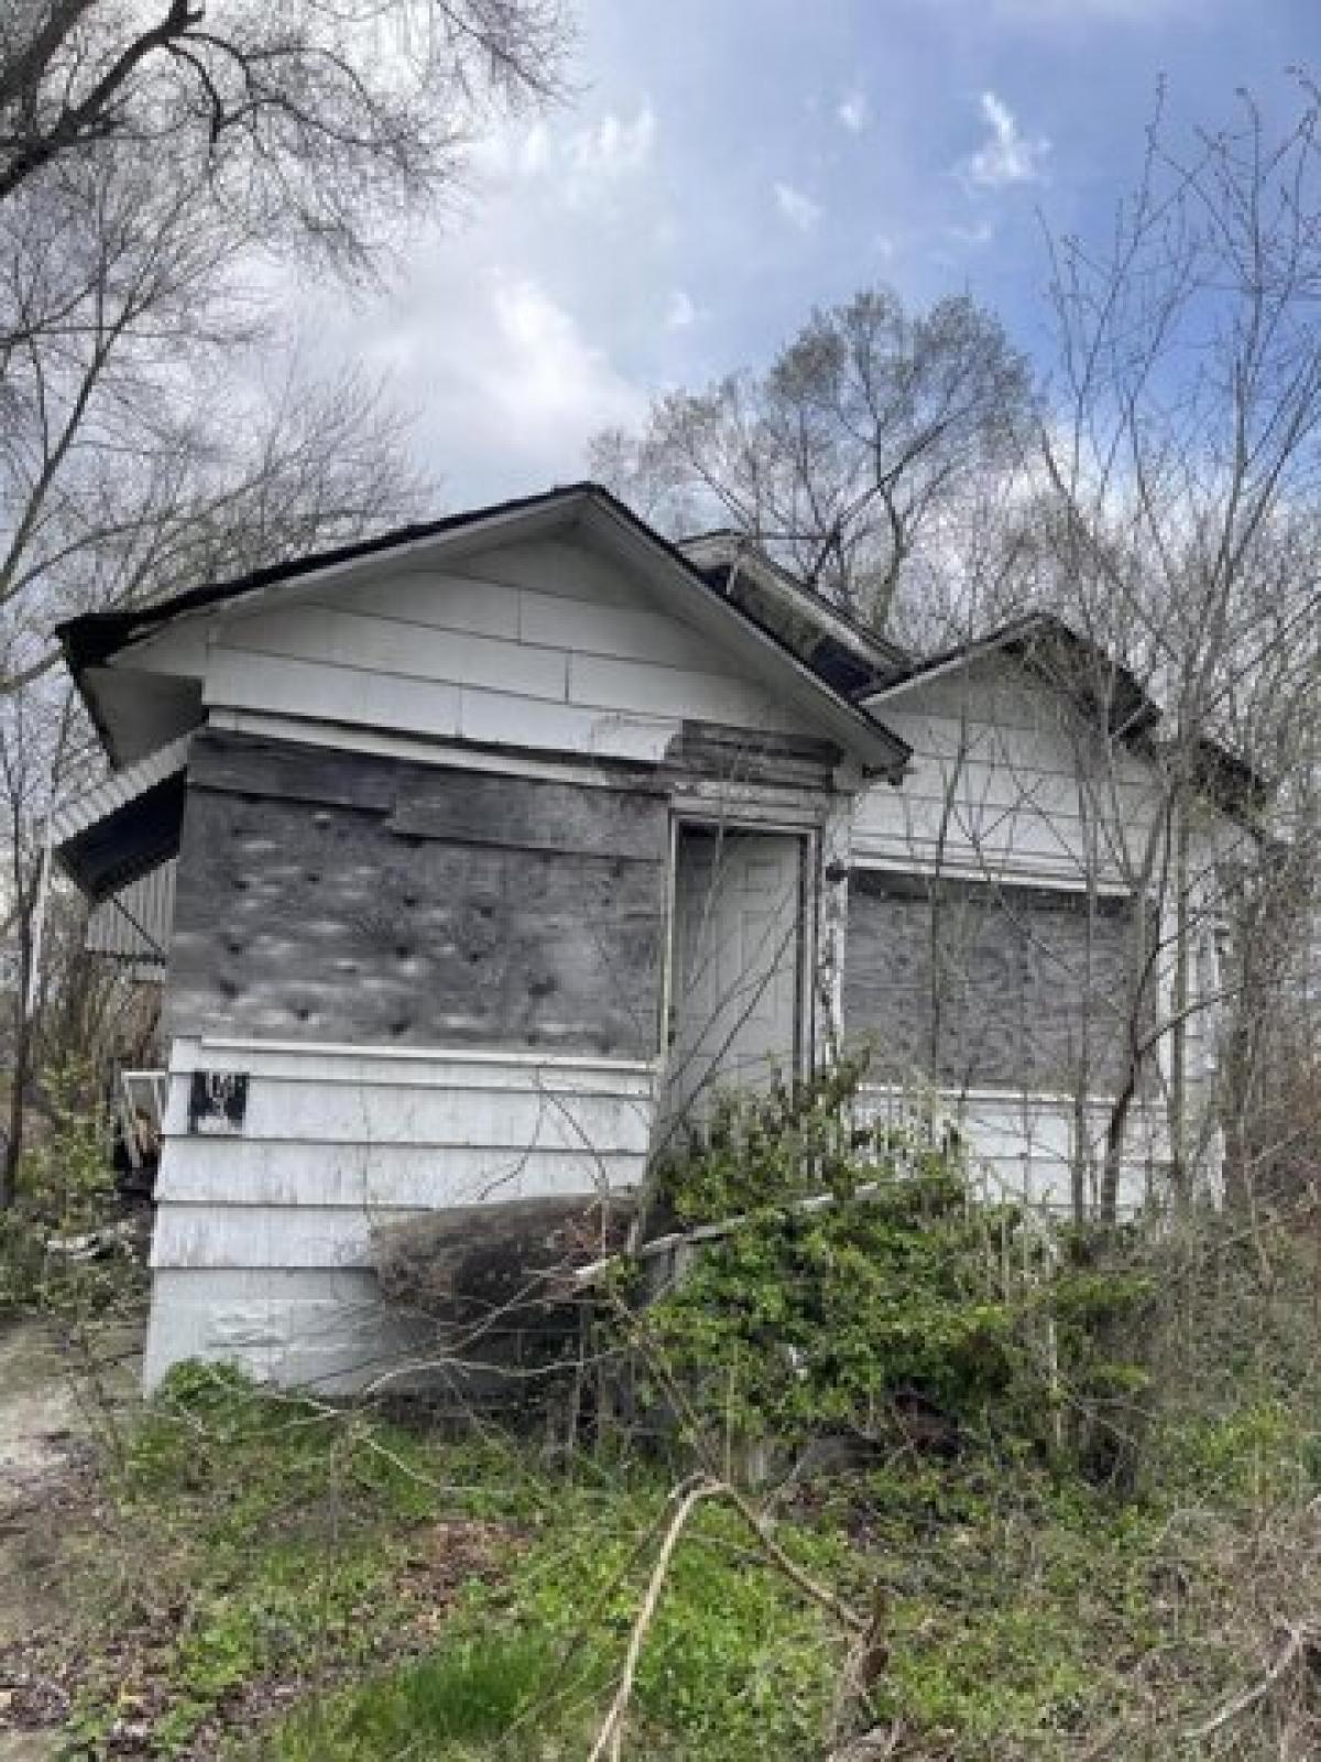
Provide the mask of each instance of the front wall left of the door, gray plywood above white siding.
POLYGON ((146 1380, 238 1357, 354 1381, 403 1350, 372 1232, 636 1186, 653 1114, 668 800, 197 737, 146 1380), (194 1071, 248 1078, 232 1136, 194 1071))

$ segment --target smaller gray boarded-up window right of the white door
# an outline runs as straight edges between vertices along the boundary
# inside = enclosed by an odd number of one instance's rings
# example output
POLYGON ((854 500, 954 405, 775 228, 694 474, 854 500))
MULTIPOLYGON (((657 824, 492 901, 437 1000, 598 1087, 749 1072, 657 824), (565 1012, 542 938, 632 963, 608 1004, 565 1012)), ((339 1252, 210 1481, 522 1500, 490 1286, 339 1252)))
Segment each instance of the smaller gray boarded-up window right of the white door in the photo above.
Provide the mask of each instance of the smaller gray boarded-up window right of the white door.
POLYGON ((872 1075, 1113 1091, 1133 1017, 1131 902, 860 870, 844 1018, 872 1075))

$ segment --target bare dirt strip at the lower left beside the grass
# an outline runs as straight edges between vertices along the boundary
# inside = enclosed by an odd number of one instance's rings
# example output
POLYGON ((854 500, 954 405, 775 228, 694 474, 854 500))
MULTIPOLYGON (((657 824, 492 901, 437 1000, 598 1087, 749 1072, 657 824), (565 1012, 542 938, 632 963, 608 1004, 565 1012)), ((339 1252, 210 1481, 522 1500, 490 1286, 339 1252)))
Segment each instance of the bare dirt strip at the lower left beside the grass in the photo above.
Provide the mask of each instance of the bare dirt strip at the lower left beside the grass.
MULTIPOLYGON (((99 1343, 114 1406, 137 1399, 141 1329, 99 1343)), ((28 1667, 42 1633, 63 1626, 60 1549, 95 1521, 97 1438, 79 1355, 42 1322, 0 1323, 0 1762, 46 1762, 63 1702, 28 1667)))

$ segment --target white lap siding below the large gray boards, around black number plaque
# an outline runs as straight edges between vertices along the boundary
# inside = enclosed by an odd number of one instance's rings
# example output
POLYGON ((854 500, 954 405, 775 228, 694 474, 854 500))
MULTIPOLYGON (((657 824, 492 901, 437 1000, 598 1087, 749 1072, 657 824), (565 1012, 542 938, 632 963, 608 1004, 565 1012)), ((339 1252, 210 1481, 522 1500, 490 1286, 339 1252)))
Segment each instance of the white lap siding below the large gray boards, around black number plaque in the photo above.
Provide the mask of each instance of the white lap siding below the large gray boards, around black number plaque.
POLYGON ((178 1040, 148 1387, 199 1355, 282 1381, 384 1366, 402 1336, 373 1295, 372 1232, 447 1205, 632 1188, 652 1094, 653 1068, 632 1061, 178 1040), (241 1135, 188 1135, 194 1070, 248 1075, 241 1135))

